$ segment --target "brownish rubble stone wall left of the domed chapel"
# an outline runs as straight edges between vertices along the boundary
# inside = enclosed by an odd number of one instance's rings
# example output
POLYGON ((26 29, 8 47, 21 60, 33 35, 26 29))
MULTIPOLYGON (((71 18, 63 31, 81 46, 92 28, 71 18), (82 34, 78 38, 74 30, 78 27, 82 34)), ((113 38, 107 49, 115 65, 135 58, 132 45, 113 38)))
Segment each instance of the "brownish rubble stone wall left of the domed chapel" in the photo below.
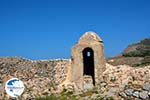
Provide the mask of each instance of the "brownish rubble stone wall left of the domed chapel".
MULTIPOLYGON (((69 59, 32 61, 20 57, 0 58, 0 99, 9 98, 5 82, 19 78, 25 85, 21 98, 38 97, 60 90, 58 86, 68 80, 69 59)), ((61 90, 60 90, 61 91, 61 90)))

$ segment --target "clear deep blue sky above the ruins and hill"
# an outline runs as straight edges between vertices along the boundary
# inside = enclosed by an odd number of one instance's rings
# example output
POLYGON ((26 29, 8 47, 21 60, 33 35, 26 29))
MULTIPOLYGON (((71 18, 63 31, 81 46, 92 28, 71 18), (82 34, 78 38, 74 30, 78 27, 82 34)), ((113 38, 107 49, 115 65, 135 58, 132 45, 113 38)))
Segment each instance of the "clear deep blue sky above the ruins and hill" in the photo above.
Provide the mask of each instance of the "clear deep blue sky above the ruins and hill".
POLYGON ((150 36, 150 0, 0 0, 0 56, 70 58, 86 31, 118 55, 150 36))

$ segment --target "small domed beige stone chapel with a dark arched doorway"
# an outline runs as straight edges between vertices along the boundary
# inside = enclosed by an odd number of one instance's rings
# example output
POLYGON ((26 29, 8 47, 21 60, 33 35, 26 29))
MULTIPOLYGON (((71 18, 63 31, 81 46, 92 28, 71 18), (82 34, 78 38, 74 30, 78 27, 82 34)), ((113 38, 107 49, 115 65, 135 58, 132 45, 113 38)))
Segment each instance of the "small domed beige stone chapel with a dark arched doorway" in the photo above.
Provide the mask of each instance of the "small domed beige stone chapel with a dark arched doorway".
POLYGON ((77 89, 88 88, 88 85, 98 86, 106 69, 102 39, 94 32, 86 32, 72 47, 71 54, 71 81, 77 89), (91 84, 84 82, 88 77, 91 84))

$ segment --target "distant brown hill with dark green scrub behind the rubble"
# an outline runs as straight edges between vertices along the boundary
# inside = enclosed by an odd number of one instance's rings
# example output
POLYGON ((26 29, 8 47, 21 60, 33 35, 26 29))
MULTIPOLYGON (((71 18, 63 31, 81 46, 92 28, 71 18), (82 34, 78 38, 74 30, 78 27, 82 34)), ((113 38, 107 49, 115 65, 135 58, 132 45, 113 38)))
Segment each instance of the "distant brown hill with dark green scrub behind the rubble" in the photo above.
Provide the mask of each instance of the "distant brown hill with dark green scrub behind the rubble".
POLYGON ((127 64, 143 66, 150 64, 150 38, 130 44, 119 56, 110 57, 107 62, 112 65, 127 64))

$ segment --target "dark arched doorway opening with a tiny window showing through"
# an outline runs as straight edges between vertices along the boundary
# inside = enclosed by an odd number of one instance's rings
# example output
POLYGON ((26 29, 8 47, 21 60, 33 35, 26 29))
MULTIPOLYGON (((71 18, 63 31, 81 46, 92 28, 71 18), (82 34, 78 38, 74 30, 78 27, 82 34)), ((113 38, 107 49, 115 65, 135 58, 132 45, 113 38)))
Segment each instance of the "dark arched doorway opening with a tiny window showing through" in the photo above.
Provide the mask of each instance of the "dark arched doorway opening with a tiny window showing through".
POLYGON ((93 85, 95 85, 94 79, 94 52, 91 48, 85 48, 83 54, 83 75, 92 76, 93 85))

